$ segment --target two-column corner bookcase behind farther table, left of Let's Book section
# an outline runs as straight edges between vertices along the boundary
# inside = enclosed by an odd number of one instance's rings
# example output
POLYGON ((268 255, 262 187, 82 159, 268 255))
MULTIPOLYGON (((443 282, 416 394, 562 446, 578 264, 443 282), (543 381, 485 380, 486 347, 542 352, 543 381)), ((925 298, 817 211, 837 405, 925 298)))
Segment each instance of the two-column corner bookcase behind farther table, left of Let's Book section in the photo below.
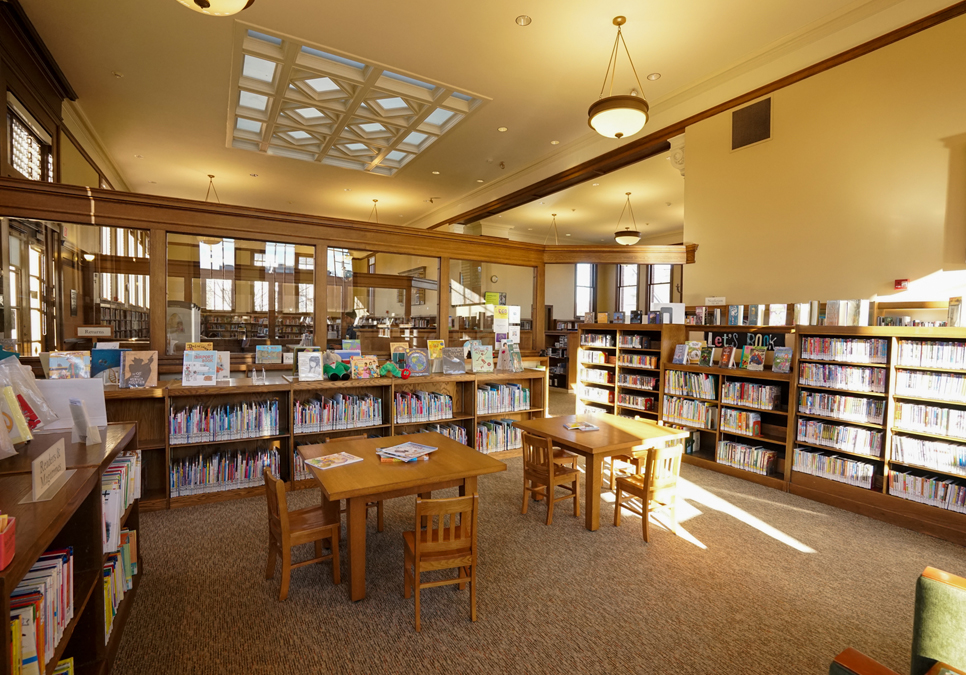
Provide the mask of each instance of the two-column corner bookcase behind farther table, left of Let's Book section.
POLYGON ((580 324, 577 412, 656 421, 661 365, 683 340, 681 325, 580 324))

